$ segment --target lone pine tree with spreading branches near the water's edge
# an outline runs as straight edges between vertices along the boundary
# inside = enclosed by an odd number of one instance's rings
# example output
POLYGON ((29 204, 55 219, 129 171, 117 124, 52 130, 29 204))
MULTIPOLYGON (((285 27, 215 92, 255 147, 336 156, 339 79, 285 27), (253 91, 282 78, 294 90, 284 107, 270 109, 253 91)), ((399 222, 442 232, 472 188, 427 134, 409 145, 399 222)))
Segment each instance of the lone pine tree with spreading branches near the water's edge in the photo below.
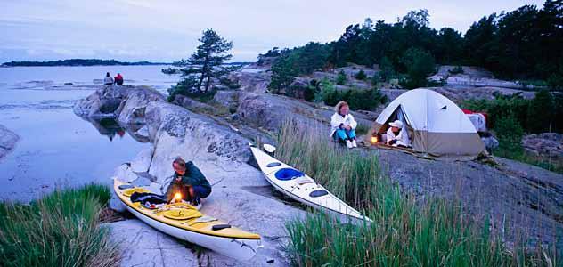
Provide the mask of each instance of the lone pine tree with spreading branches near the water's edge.
MULTIPOLYGON (((229 73, 239 69, 237 66, 224 64, 233 57, 228 53, 233 48, 233 42, 228 42, 213 29, 205 30, 199 41, 196 52, 189 59, 174 62, 175 67, 182 68, 177 71, 184 78, 168 90, 169 99, 174 100, 178 93, 207 93, 214 80, 230 85, 229 73)), ((163 69, 163 72, 169 73, 171 70, 163 69)))

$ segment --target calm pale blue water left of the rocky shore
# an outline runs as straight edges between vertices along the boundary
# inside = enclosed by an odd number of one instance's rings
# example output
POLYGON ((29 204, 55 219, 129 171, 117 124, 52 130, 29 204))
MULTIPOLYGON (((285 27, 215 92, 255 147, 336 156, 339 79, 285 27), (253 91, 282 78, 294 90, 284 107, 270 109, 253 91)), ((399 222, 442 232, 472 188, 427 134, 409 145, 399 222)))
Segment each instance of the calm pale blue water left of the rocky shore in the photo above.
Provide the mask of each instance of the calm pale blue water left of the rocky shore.
POLYGON ((15 150, 0 159, 0 198, 28 201, 57 187, 110 184, 114 169, 148 144, 111 121, 77 117, 72 106, 94 93, 95 80, 107 71, 113 76, 119 71, 126 85, 165 92, 178 77, 162 74, 162 68, 0 68, 0 124, 20 135, 15 150))

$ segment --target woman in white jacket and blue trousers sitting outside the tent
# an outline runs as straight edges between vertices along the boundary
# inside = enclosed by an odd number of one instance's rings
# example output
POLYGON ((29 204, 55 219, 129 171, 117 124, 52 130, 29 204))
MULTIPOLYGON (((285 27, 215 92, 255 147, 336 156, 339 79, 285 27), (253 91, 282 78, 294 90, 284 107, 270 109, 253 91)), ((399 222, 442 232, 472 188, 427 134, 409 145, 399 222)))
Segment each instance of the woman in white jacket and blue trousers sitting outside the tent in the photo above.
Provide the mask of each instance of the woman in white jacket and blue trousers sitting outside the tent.
POLYGON ((358 125, 355 122, 352 114, 349 114, 350 107, 345 101, 339 101, 334 108, 334 115, 330 118, 330 137, 338 142, 346 142, 348 149, 357 148, 355 142, 355 127, 358 125))

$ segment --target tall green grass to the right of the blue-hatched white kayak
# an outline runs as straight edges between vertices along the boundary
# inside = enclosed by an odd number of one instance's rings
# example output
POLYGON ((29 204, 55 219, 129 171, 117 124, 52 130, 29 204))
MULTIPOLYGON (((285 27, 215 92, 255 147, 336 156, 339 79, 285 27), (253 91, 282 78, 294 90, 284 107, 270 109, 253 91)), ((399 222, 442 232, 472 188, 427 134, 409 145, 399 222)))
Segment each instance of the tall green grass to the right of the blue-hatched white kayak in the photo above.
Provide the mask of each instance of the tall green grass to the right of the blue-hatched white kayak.
MULTIPOLYGON (((322 131, 287 122, 276 157, 310 174, 372 223, 341 223, 325 214, 286 223, 295 266, 556 266, 555 253, 504 246, 489 222, 475 222, 455 202, 402 193, 365 151, 340 150, 322 131), (298 133, 298 134, 296 134, 298 133)), ((554 250, 554 249, 553 249, 554 250)))

